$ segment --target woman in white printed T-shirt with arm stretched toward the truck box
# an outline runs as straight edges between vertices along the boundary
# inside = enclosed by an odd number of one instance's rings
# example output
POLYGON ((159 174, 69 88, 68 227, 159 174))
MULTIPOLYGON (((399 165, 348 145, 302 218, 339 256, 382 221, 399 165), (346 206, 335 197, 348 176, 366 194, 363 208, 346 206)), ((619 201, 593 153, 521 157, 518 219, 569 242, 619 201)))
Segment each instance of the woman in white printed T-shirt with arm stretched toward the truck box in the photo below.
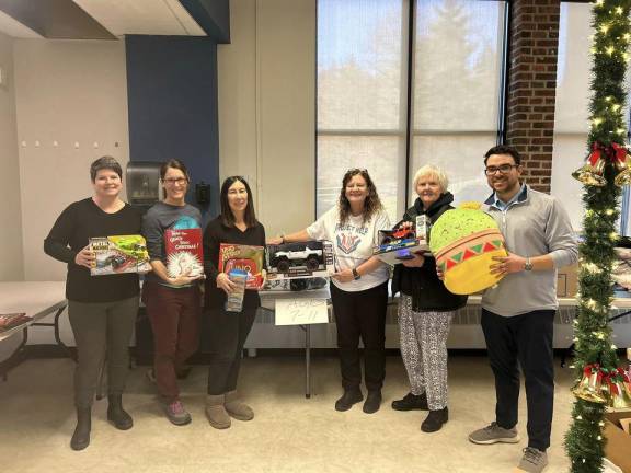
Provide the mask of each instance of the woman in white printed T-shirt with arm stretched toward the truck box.
POLYGON ((336 273, 331 285, 333 313, 344 394, 335 402, 347 411, 364 399, 359 384, 359 338, 364 343, 364 380, 368 395, 364 412, 372 414, 381 405, 386 377, 386 309, 388 265, 372 256, 379 230, 390 229, 377 188, 366 170, 344 174, 340 199, 305 230, 269 241, 271 244, 330 240, 334 244, 336 273))

